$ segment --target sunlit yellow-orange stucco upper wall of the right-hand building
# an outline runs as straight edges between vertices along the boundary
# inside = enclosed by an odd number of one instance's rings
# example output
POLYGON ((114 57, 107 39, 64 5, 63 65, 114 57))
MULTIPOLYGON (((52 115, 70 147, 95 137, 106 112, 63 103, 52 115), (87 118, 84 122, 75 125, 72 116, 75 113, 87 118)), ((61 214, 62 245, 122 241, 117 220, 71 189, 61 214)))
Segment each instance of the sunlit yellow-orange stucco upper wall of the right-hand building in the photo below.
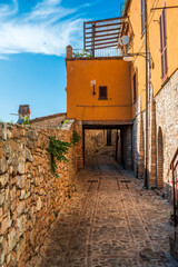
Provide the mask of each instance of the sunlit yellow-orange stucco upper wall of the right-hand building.
MULTIPOLYGON (((161 59, 160 59, 160 31, 159 17, 161 10, 150 11, 151 8, 177 6, 177 0, 148 0, 148 48, 151 53, 151 85, 154 96, 161 90, 161 59)), ((127 14, 129 14, 134 39, 129 52, 145 52, 145 34, 141 36, 140 0, 131 0, 127 14)), ((178 68, 178 8, 166 10, 167 51, 168 51, 168 78, 178 68)), ((137 71, 137 96, 141 96, 141 108, 145 109, 145 58, 136 57, 131 68, 132 76, 137 71)), ((166 81, 165 81, 166 82, 166 81)), ((131 85, 132 87, 132 85, 131 85)), ((134 106, 135 112, 135 106, 134 106)))

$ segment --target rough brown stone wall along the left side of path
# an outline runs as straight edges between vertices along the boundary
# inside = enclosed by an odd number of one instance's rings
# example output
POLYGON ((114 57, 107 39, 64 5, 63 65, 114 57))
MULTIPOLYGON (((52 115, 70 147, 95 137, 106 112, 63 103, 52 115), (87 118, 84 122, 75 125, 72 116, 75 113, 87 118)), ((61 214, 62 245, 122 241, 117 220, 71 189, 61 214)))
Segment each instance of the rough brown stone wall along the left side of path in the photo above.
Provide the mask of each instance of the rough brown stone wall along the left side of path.
POLYGON ((48 229, 75 190, 76 147, 69 162, 51 174, 51 136, 70 141, 69 130, 0 123, 0 266, 24 267, 40 250, 48 229))

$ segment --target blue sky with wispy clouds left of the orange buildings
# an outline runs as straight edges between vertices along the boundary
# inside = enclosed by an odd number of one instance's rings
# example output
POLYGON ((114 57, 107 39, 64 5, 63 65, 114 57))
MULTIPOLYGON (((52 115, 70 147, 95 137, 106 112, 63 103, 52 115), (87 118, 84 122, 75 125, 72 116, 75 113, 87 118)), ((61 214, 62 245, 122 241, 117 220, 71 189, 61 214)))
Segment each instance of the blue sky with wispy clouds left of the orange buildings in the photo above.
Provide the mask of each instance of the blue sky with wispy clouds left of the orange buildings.
POLYGON ((123 0, 0 0, 0 118, 66 111, 68 44, 82 48, 82 22, 120 16, 123 0))

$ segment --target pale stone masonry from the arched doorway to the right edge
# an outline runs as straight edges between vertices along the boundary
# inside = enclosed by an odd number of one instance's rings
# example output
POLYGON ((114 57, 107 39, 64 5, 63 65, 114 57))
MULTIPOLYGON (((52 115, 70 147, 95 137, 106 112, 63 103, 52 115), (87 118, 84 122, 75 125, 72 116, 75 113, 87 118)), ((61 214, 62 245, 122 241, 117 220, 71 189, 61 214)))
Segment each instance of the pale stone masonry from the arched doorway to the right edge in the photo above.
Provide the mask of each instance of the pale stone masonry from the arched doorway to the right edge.
MULTIPOLYGON (((158 146, 160 147, 159 132, 161 131, 162 134, 162 179, 165 192, 171 195, 170 161, 178 147, 178 70, 155 97, 155 101, 157 148, 158 146)), ((157 160, 159 157, 157 149, 157 160)))

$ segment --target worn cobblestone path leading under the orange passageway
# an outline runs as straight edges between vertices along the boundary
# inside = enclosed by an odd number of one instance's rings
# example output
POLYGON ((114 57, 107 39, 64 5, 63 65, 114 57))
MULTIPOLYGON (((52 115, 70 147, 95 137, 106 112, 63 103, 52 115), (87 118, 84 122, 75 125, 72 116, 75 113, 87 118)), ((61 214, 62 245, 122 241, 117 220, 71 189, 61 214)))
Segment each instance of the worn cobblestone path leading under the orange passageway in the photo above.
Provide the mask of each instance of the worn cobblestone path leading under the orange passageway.
POLYGON ((119 167, 93 158, 77 179, 36 267, 176 267, 170 204, 119 167))

